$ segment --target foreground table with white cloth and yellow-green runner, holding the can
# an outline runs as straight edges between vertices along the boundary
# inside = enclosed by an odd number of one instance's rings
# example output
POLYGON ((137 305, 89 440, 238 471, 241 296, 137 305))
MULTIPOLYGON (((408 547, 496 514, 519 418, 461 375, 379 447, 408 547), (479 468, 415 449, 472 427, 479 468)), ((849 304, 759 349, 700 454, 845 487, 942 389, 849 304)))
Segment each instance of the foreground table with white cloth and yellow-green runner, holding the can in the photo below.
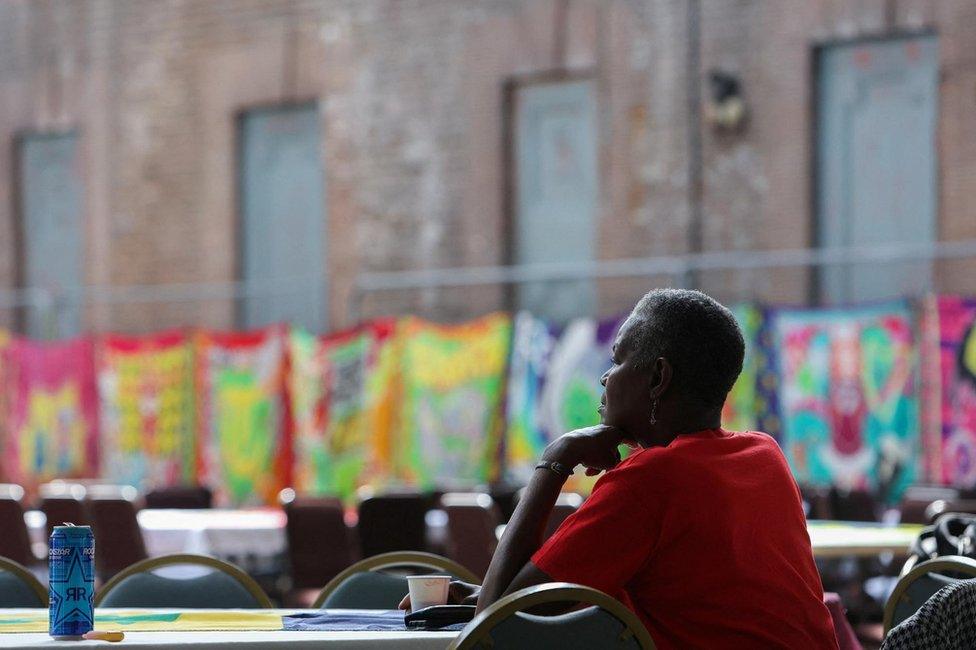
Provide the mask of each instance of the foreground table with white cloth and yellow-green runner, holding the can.
MULTIPOLYGON (((140 613, 172 614, 176 610, 138 610, 140 613)), ((183 610, 184 612, 190 610, 183 610)), ((260 618, 267 618, 269 614, 294 614, 300 610, 192 610, 193 614, 206 616, 216 614, 226 617, 228 613, 239 614, 242 617, 257 614, 260 618)), ((308 610, 305 610, 308 611, 308 610)), ((99 617, 110 615, 129 615, 133 610, 98 609, 96 610, 96 624, 99 617)), ((47 615, 46 609, 0 609, 0 619, 10 616, 39 616, 47 615)), ((256 627, 267 628, 266 624, 258 621, 256 627)), ((115 627, 114 629, 119 629, 115 627)), ((125 630, 122 626, 121 629, 125 630)), ((7 632, 0 634, 0 648, 36 648, 38 646, 55 648, 91 648, 92 646, 125 648, 138 646, 140 648, 154 648, 169 650, 170 648, 192 647, 201 649, 233 648, 328 648, 329 650, 356 650, 365 648, 394 648, 404 650, 443 650, 458 632, 310 632, 283 631, 268 629, 226 629, 220 631, 198 630, 154 630, 154 631, 125 631, 125 640, 120 644, 109 644, 106 641, 55 641, 45 632, 7 632)))

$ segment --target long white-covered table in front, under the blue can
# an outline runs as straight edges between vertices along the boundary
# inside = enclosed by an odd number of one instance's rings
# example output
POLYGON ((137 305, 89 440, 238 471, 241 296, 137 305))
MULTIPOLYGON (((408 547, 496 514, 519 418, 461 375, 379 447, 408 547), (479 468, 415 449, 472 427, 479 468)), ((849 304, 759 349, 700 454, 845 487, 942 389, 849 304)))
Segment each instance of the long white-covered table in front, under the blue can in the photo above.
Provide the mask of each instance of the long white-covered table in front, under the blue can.
MULTIPOLYGON (((95 625, 98 629, 121 629, 125 640, 119 647, 138 646, 169 650, 170 648, 192 647, 201 649, 233 648, 323 648, 347 650, 364 648, 403 648, 404 650, 443 650, 458 632, 424 632, 413 630, 372 632, 372 631, 285 631, 269 629, 275 625, 274 618, 294 614, 299 610, 173 610, 173 609, 97 609, 95 625), (170 623, 104 623, 122 617, 146 618, 146 614, 160 618, 173 618, 178 614, 191 614, 193 621, 170 623), (212 620, 208 623, 208 616, 212 620), (103 621, 103 623, 100 623, 103 621), (271 623, 269 623, 271 621, 271 623), (151 629, 144 629, 149 627, 151 629), (204 630, 199 628, 216 627, 204 630), (188 629, 197 628, 197 629, 188 629)), ((308 610, 306 610, 308 611, 308 610)), ((0 632, 4 627, 17 627, 17 621, 31 621, 26 627, 36 628, 38 619, 45 619, 46 609, 0 609, 0 632)), ((21 625, 20 627, 25 627, 21 625)), ((90 648, 93 645, 106 646, 104 641, 56 641, 46 632, 10 631, 0 633, 0 648, 36 648, 38 646, 56 648, 90 648)))

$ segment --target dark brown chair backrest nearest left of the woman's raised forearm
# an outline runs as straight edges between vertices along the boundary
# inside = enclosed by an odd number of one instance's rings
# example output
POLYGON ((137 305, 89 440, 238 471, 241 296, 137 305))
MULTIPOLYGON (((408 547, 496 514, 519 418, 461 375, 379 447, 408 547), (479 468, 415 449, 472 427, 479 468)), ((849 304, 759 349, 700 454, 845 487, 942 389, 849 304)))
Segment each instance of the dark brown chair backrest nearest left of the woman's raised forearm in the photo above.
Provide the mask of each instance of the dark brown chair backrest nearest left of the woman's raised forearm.
POLYGON ((483 578, 498 545, 501 511, 484 492, 448 492, 441 507, 447 513, 447 556, 483 578))

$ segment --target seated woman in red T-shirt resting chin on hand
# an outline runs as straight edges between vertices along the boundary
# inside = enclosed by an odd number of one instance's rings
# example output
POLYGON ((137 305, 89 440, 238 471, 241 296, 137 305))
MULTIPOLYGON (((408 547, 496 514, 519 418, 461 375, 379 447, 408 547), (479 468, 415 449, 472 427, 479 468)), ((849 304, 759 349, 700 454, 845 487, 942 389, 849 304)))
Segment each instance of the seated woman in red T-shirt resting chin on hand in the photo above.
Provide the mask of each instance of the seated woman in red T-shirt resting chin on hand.
MULTIPOLYGON (((544 582, 600 589, 659 648, 836 648, 800 493, 776 442, 721 428, 742 370, 731 312, 697 291, 651 291, 621 326, 602 424, 554 440, 519 501, 478 609, 544 582), (638 449, 620 461, 617 446, 638 449), (606 474, 543 544, 574 468, 606 474)), ((408 605, 408 602, 404 602, 408 605)))

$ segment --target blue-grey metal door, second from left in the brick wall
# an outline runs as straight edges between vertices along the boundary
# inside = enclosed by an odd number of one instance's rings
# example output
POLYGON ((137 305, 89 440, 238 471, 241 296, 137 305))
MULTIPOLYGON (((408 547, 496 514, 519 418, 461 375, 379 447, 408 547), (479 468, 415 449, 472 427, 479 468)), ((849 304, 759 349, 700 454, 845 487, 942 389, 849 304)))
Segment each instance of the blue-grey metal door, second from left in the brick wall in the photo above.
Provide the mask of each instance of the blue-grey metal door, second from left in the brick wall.
POLYGON ((241 119, 241 325, 327 320, 325 174, 315 105, 249 111, 241 119))

